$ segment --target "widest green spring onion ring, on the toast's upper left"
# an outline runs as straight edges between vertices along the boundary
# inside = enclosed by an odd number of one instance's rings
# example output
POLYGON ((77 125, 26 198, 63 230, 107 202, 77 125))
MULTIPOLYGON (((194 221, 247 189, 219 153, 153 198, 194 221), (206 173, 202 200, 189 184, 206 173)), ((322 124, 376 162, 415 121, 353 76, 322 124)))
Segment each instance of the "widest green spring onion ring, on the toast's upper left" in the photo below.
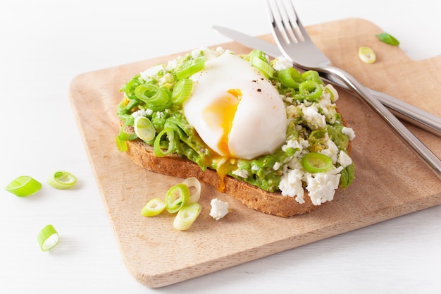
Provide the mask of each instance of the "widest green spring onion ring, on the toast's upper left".
POLYGON ((154 111, 161 111, 171 106, 171 97, 166 89, 153 84, 142 84, 135 89, 136 97, 154 111))

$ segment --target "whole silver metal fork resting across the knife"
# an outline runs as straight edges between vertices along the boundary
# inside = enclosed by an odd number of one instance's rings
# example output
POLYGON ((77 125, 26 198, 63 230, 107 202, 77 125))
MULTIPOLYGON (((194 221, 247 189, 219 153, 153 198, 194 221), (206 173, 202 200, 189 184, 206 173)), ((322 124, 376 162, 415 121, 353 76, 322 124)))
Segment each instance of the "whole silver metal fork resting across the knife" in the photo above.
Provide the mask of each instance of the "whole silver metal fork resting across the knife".
POLYGON ((323 73, 329 80, 335 78, 342 80, 441 178, 440 159, 352 75, 330 65, 328 57, 309 37, 290 0, 266 0, 266 6, 275 42, 282 54, 290 59, 294 66, 323 73))

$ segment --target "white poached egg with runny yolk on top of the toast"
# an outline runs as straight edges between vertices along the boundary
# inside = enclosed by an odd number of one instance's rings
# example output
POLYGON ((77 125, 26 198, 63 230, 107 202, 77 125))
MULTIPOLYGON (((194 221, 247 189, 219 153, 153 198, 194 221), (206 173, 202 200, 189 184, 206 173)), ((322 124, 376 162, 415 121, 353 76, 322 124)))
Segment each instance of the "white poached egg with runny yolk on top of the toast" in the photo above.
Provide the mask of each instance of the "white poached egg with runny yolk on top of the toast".
POLYGON ((204 69, 190 78, 194 90, 183 105, 184 114, 213 151, 223 157, 254 159, 285 142, 285 104, 250 63, 225 53, 206 61, 204 69))

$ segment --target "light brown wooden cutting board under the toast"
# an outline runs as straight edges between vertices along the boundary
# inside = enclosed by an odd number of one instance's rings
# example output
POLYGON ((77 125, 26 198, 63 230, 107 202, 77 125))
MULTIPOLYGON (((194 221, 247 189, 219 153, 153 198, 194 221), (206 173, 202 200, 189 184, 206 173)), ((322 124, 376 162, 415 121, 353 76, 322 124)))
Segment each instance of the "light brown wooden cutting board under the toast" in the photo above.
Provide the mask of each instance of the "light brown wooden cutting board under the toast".
MULTIPOLYGON (((360 19, 345 19, 308 27, 311 37, 335 66, 352 73, 364 85, 386 92, 441 116, 441 56, 411 61, 399 47, 379 42, 382 30, 360 19), (359 61, 357 49, 372 47, 374 64, 359 61)), ((271 35, 262 36, 272 40, 271 35)), ((249 51, 231 42, 237 53, 249 51)), ((214 46, 213 46, 214 47, 214 46)), ((254 212, 208 185, 202 186, 201 215, 189 231, 175 231, 173 217, 141 216, 151 197, 163 197, 181 178, 140 169, 118 152, 116 105, 118 92, 130 78, 163 56, 77 76, 70 99, 90 163, 111 219, 123 260, 137 281, 151 288, 167 286, 249 262, 276 252, 369 226, 441 204, 441 181, 360 100, 340 90, 337 106, 354 128, 352 157, 356 180, 311 214, 283 219, 254 212), (232 211, 215 221, 210 200, 230 203, 232 211)), ((441 138, 409 125, 441 157, 441 138)))

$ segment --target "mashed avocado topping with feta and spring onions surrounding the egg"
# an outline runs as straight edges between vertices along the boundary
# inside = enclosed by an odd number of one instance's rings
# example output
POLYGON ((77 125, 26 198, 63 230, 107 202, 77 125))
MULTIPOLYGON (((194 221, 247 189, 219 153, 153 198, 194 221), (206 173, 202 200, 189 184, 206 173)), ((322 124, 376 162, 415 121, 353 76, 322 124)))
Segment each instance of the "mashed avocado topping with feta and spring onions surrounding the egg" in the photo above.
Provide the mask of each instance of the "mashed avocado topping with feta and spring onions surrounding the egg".
MULTIPOLYGON (((191 94, 185 82, 204 68, 204 62, 221 54, 233 54, 222 48, 203 48, 159 64, 135 75, 120 91, 124 99, 118 104, 123 126, 120 140, 137 140, 134 127, 137 116, 151 121, 154 137, 145 141, 154 147, 156 156, 179 154, 201 169, 214 169, 223 177, 232 176, 270 192, 280 191, 287 197, 304 202, 304 189, 313 204, 333 199, 336 188, 346 188, 354 179, 354 163, 347 148, 354 138, 337 112, 338 94, 332 85, 324 85, 318 73, 299 73, 286 59, 268 60, 261 51, 239 55, 268 78, 280 93, 286 107, 286 142, 272 154, 254 159, 221 157, 210 149, 187 122, 182 103, 191 94), (325 165, 329 162, 329 165, 325 165)), ((234 69, 233 69, 234 70, 234 69)), ((193 85, 194 86, 194 85, 193 85)), ((265 115, 265 114, 262 114, 265 115)))

